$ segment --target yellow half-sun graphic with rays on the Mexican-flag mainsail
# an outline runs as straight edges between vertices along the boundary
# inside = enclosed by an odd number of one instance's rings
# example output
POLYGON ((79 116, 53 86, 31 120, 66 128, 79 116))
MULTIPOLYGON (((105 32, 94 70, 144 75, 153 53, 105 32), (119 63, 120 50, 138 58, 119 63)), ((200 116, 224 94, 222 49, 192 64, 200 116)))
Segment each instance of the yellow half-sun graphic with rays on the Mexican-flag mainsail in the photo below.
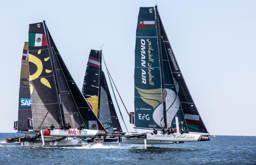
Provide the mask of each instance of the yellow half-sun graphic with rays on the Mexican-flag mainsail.
MULTIPOLYGON (((41 54, 41 49, 38 50, 37 54, 41 54)), ((50 57, 44 58, 44 61, 48 61, 49 59, 50 59, 50 57)), ((43 72, 43 63, 39 58, 37 58, 33 54, 28 54, 28 61, 34 63, 37 67, 36 72, 33 75, 29 75, 29 81, 32 81, 32 80, 37 79, 41 75, 41 73, 43 72)), ((52 70, 45 69, 45 72, 46 73, 51 73, 52 70)), ((41 78, 40 81, 41 81, 42 84, 44 84, 48 88, 52 89, 51 84, 49 83, 49 81, 46 78, 41 78)), ((29 84, 29 85, 30 85, 30 94, 32 94, 33 86, 32 86, 32 84, 29 84)))

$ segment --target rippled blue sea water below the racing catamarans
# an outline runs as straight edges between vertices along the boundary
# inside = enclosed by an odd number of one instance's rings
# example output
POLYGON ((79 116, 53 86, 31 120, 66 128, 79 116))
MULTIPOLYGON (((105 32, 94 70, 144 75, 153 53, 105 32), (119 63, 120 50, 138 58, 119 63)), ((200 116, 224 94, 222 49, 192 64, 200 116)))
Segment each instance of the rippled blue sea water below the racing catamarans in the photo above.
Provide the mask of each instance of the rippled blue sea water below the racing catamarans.
MULTIPOLYGON (((256 164, 255 136, 210 136, 210 141, 144 145, 24 147, 5 143, 17 133, 0 133, 0 164, 256 164)), ((21 134, 24 135, 24 134, 21 134)))

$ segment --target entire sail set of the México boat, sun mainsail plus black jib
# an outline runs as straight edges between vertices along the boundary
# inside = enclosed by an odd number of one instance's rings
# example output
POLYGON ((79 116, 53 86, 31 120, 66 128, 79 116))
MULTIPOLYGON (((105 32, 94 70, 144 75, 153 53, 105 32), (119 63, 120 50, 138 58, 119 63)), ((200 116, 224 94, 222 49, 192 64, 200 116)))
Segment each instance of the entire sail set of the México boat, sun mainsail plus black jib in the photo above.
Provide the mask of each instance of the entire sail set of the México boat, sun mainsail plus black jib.
POLYGON ((84 123, 86 129, 104 134, 104 127, 84 100, 45 22, 29 25, 28 45, 34 129, 70 122, 73 128, 84 123))

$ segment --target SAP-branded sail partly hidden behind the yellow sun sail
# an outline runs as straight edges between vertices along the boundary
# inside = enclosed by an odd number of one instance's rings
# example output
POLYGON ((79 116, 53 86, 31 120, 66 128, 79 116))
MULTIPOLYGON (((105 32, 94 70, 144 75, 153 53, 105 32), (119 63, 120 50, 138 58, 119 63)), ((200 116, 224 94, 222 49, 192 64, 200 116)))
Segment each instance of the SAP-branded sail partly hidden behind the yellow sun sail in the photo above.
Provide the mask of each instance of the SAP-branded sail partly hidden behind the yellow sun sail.
POLYGON ((28 42, 24 43, 21 69, 20 69, 20 92, 18 110, 18 132, 34 132, 31 111, 31 98, 29 89, 28 70, 28 42))

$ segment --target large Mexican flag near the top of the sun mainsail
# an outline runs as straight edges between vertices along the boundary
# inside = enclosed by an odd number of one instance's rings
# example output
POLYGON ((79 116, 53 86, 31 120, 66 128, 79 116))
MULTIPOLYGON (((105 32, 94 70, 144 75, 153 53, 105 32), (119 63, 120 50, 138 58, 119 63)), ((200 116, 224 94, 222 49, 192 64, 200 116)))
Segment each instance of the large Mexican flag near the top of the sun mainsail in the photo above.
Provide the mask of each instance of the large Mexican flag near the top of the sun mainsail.
POLYGON ((28 33, 28 46, 30 47, 47 46, 45 34, 28 33))

